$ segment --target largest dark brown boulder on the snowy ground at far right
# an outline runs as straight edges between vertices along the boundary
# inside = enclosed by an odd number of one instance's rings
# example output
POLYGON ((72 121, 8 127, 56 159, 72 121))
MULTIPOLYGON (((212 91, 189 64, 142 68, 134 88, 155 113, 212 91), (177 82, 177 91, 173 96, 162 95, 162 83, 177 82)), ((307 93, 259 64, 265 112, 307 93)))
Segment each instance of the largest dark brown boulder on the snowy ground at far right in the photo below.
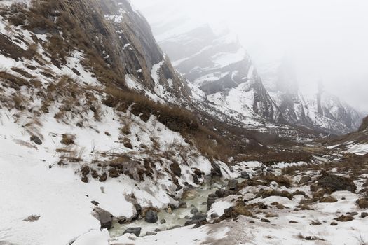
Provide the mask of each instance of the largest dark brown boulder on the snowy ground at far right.
POLYGON ((348 190, 354 193, 357 190, 351 179, 334 174, 322 174, 318 179, 318 186, 332 191, 348 190))

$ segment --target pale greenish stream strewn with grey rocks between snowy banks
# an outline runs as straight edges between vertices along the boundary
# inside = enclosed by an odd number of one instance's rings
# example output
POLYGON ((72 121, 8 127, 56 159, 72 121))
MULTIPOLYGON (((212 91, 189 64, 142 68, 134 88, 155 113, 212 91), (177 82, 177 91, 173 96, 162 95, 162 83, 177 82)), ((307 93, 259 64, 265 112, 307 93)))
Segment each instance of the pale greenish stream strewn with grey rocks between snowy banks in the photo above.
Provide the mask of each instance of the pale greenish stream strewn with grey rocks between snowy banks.
POLYGON ((184 225, 203 225, 211 218, 218 216, 214 212, 209 212, 211 204, 218 198, 218 195, 228 191, 238 181, 243 180, 243 178, 217 182, 208 180, 198 188, 185 188, 178 207, 169 206, 161 211, 149 210, 145 212, 144 217, 139 217, 130 223, 121 224, 114 221, 109 229, 110 235, 111 237, 119 237, 125 233, 132 233, 142 237, 184 225))

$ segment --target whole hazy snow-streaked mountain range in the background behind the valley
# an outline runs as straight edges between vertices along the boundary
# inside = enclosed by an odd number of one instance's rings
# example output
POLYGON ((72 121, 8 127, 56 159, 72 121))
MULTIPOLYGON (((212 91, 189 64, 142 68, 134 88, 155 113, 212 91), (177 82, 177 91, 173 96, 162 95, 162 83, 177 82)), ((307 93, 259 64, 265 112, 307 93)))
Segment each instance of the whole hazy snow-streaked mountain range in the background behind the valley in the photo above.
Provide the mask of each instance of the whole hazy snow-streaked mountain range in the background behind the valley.
POLYGON ((210 102, 247 118, 260 116, 333 134, 359 127, 360 113, 338 97, 326 91, 301 92, 287 62, 262 67, 259 73, 237 37, 226 28, 198 24, 175 8, 163 11, 166 18, 158 17, 158 11, 147 11, 159 45, 210 102))

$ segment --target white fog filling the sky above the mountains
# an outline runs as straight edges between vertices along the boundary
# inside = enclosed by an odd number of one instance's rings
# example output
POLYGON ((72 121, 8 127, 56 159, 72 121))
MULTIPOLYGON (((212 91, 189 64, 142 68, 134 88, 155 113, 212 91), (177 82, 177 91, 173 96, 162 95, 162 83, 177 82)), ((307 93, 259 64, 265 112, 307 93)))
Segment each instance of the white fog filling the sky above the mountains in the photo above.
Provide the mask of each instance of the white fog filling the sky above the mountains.
POLYGON ((262 71, 292 60, 299 86, 326 90, 368 111, 368 1, 132 0, 151 23, 190 16, 198 25, 226 25, 262 71), (159 13, 159 14, 158 14, 159 13))

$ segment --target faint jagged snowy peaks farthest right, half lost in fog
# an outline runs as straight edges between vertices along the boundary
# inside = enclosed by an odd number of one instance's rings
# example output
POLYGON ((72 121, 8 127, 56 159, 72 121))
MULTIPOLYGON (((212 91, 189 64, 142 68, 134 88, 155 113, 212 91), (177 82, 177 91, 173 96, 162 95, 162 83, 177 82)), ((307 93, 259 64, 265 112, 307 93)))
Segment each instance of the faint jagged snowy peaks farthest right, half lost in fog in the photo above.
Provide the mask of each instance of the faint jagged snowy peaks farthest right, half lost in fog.
POLYGON ((325 91, 322 84, 314 94, 302 93, 289 60, 283 59, 277 71, 263 75, 270 80, 266 89, 287 122, 333 134, 346 134, 359 127, 360 113, 325 91))

